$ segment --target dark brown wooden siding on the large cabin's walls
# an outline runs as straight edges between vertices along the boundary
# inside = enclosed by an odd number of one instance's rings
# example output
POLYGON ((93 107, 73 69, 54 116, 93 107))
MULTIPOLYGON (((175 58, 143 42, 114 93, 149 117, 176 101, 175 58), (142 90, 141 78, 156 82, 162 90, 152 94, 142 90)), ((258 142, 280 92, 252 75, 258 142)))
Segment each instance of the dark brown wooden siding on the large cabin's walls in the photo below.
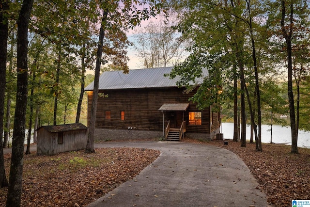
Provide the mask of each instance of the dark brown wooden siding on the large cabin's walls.
MULTIPOLYGON (((109 97, 99 97, 96 113, 98 128, 126 129, 136 127, 143 130, 163 130, 163 113, 158 109, 164 103, 190 103, 189 94, 183 93, 184 88, 148 88, 100 91, 109 97), (111 111, 111 119, 105 120, 105 111, 111 111), (121 111, 125 118, 121 120, 121 111)), ((91 114, 93 93, 88 92, 88 124, 91 114)), ((210 132, 209 109, 202 111, 202 125, 188 126, 188 111, 199 111, 196 104, 190 103, 184 118, 187 121, 187 131, 198 133, 210 132)), ((165 113, 165 119, 169 116, 165 113)))

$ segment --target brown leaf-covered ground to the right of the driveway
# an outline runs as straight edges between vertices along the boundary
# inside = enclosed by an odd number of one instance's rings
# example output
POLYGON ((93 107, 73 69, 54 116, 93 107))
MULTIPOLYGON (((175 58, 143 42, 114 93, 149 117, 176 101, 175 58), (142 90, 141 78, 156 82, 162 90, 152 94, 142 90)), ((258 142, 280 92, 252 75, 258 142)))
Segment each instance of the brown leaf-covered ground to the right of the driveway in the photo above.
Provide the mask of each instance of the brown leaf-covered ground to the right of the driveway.
POLYGON ((298 148, 291 154, 291 146, 263 143, 263 152, 255 151, 255 143, 241 147, 240 142, 201 142, 185 139, 184 142, 204 143, 228 149, 238 155, 254 175, 267 201, 274 207, 289 207, 291 200, 310 200, 310 149, 298 148))

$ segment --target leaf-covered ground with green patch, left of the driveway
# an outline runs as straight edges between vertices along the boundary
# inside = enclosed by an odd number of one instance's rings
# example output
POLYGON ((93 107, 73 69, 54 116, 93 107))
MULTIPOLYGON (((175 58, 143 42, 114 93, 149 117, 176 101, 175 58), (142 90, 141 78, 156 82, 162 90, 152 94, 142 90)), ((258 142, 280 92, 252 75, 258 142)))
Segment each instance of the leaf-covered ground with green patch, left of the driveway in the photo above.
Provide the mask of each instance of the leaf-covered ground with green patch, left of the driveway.
MULTIPOLYGON (((159 154, 144 148, 102 148, 93 154, 24 155, 21 206, 86 206, 138 175, 159 154)), ((11 154, 4 159, 8 177, 11 154)), ((5 206, 6 194, 7 188, 0 189, 1 207, 5 206)))

